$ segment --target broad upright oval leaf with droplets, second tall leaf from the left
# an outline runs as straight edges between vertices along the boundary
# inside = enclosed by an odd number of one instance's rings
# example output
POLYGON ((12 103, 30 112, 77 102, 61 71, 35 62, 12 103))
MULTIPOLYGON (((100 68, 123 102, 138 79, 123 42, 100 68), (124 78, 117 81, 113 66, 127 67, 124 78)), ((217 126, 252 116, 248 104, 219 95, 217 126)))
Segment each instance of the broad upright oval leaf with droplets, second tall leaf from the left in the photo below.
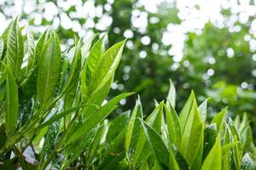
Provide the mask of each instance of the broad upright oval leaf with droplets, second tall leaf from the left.
POLYGON ((61 48, 55 33, 44 44, 38 63, 38 100, 44 105, 52 97, 59 82, 61 71, 61 48))

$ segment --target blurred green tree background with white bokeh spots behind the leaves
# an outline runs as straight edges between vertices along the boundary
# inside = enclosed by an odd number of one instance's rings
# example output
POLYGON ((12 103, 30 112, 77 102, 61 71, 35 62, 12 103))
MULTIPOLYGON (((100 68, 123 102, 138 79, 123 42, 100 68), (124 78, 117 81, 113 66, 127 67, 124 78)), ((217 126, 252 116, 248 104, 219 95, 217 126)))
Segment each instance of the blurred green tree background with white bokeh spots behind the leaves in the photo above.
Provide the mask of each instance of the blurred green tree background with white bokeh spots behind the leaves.
POLYGON ((212 97, 209 118, 229 105, 230 116, 251 116, 256 133, 255 0, 0 0, 0 34, 17 14, 36 38, 53 27, 62 51, 74 34, 108 31, 108 46, 129 38, 110 98, 134 91, 149 113, 172 78, 178 111, 194 89, 198 103, 212 97))

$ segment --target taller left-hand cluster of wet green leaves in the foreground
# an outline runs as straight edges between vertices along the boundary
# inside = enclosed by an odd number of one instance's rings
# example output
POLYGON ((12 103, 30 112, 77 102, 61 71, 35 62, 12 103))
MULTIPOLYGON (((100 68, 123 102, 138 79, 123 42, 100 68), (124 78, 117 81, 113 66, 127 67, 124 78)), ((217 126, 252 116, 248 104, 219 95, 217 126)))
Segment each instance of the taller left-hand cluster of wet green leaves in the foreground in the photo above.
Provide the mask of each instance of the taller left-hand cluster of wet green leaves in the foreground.
POLYGON ((15 169, 19 164, 22 169, 32 167, 26 159, 32 159, 38 169, 66 169, 78 157, 80 166, 95 161, 102 166, 113 149, 110 133, 100 138, 108 132, 104 119, 119 100, 131 95, 119 94, 102 105, 125 41, 105 51, 106 35, 86 40, 75 37, 75 46, 61 54, 59 39, 51 29, 44 31, 37 44, 28 27, 24 35, 22 31, 16 18, 0 40, 0 169, 15 169), (105 157, 95 159, 102 143, 110 143, 102 148, 105 157), (28 153, 34 157, 24 155, 28 148, 34 150, 28 153))

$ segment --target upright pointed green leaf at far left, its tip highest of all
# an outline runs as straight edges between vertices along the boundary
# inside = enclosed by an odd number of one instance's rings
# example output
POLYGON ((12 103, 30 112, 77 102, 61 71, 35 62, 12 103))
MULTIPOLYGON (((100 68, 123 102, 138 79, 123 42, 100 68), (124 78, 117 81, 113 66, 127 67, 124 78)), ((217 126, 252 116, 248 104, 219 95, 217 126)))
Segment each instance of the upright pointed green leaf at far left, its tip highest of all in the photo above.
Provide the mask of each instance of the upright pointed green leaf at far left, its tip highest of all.
POLYGON ((20 66, 23 60, 23 39, 20 33, 18 18, 13 20, 7 36, 6 64, 15 77, 20 74, 20 66))

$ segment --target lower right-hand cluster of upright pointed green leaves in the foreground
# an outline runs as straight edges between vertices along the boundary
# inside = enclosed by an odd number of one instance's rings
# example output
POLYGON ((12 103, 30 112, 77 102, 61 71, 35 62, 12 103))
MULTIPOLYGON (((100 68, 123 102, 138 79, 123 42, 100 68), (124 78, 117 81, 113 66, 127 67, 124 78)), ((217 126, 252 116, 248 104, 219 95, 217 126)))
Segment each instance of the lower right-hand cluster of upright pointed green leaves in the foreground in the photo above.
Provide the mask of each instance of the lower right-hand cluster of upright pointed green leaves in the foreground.
POLYGON ((125 136, 131 169, 255 169, 256 148, 247 114, 226 120, 227 107, 207 122, 207 100, 197 106, 192 91, 179 114, 171 82, 166 102, 143 120, 140 99, 125 136), (141 127, 140 127, 141 124, 141 127))

